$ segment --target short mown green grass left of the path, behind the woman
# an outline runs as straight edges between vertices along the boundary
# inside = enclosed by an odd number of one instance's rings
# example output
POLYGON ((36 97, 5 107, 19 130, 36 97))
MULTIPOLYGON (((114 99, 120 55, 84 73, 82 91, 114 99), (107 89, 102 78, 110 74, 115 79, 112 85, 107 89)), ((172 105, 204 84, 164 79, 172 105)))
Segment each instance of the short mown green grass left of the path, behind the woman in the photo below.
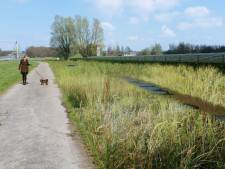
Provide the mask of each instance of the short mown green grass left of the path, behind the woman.
MULTIPOLYGON (((0 61, 0 94, 21 79, 18 64, 16 61, 0 61)), ((31 62, 31 65, 32 69, 37 63, 31 62)))

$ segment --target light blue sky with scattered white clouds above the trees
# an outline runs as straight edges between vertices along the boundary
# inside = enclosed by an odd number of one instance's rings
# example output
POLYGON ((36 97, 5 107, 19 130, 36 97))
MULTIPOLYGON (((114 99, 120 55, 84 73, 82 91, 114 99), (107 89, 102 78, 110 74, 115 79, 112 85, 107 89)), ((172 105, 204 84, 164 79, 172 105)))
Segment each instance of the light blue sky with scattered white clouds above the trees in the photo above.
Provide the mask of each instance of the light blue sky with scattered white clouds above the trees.
POLYGON ((225 45, 224 0, 1 0, 0 48, 48 46, 55 15, 98 18, 106 45, 225 45))

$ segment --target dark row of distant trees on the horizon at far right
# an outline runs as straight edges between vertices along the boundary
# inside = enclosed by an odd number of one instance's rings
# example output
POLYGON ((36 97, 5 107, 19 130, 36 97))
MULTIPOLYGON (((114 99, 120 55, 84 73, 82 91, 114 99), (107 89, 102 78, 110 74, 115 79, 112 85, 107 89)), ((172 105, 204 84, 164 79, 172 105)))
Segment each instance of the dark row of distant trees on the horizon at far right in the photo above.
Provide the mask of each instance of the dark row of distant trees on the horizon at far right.
POLYGON ((186 53, 219 53, 225 52, 225 46, 192 45, 181 42, 178 45, 170 45, 165 54, 186 54, 186 53))

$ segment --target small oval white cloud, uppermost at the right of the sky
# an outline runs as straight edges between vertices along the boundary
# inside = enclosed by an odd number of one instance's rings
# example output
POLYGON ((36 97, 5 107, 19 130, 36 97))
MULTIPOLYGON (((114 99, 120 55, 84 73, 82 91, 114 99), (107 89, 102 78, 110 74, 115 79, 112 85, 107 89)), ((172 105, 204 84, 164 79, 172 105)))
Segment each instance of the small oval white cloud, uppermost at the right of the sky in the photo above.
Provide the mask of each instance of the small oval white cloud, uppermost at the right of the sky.
POLYGON ((204 6, 189 7, 184 13, 190 17, 207 17, 210 15, 209 9, 204 6))

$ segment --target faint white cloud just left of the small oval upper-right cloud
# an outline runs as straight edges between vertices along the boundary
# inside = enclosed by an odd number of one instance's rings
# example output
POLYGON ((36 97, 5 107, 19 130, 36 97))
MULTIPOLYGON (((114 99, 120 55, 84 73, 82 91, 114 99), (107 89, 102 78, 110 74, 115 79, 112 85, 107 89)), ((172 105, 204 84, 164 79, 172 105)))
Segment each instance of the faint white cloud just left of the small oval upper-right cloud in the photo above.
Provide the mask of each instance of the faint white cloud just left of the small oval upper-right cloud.
POLYGON ((179 16, 179 12, 166 12, 166 13, 160 13, 160 14, 157 14, 155 15, 155 19, 158 21, 158 22, 171 22, 173 21, 174 19, 178 18, 179 16))

